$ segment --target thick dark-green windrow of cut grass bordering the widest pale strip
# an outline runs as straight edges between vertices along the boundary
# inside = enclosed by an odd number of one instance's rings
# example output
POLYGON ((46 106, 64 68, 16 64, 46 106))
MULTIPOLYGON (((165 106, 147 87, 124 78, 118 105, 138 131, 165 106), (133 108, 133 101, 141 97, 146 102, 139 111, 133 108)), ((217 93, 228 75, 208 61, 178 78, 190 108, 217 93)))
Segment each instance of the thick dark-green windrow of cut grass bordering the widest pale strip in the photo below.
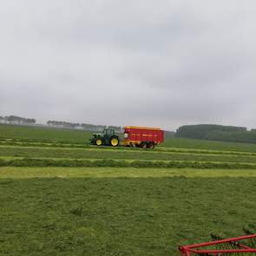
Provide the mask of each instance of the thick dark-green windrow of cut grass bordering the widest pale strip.
POLYGON ((154 167, 200 169, 256 169, 256 164, 200 162, 200 161, 115 161, 115 160, 56 160, 56 159, 0 159, 0 167, 154 167))

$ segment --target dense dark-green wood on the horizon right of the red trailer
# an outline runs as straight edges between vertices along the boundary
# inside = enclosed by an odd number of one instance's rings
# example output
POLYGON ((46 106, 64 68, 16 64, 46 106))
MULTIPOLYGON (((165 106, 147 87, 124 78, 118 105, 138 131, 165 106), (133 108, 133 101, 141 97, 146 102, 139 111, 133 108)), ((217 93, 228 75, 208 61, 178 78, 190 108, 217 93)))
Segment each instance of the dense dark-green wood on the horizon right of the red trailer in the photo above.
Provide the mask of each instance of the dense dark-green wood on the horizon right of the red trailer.
POLYGON ((176 137, 210 141, 256 143, 256 129, 212 124, 187 125, 177 129, 176 137))

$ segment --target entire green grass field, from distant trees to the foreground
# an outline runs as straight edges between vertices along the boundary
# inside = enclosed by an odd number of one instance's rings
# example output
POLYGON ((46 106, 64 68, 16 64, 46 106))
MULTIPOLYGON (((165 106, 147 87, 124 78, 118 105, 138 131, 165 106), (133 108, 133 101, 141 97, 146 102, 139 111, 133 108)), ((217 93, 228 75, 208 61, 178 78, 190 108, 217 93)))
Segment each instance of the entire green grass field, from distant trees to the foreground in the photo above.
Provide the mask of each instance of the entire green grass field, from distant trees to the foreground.
POLYGON ((0 255, 179 255, 256 225, 256 145, 0 125, 0 255))

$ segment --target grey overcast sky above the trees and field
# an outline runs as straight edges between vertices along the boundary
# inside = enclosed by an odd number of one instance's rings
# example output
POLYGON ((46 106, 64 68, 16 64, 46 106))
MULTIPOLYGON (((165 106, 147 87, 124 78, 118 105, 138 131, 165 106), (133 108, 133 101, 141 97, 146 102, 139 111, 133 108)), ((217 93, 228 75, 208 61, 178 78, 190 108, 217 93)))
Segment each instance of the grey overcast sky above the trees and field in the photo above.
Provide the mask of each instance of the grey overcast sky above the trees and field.
POLYGON ((0 3, 0 115, 256 127, 255 0, 0 3))

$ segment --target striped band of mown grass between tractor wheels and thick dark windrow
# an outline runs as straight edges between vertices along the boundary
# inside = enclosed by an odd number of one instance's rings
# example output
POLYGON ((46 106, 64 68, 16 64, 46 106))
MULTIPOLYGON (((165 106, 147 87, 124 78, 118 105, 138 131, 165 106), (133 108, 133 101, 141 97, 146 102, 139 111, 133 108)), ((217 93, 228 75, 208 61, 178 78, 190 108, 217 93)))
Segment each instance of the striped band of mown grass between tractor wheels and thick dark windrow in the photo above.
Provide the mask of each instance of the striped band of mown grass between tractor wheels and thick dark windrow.
POLYGON ((155 152, 149 150, 116 150, 98 148, 23 148, 0 147, 0 156, 30 157, 30 158, 72 158, 72 159, 126 159, 155 161, 222 161, 256 163, 256 157, 251 155, 232 154, 188 154, 186 152, 155 152))

